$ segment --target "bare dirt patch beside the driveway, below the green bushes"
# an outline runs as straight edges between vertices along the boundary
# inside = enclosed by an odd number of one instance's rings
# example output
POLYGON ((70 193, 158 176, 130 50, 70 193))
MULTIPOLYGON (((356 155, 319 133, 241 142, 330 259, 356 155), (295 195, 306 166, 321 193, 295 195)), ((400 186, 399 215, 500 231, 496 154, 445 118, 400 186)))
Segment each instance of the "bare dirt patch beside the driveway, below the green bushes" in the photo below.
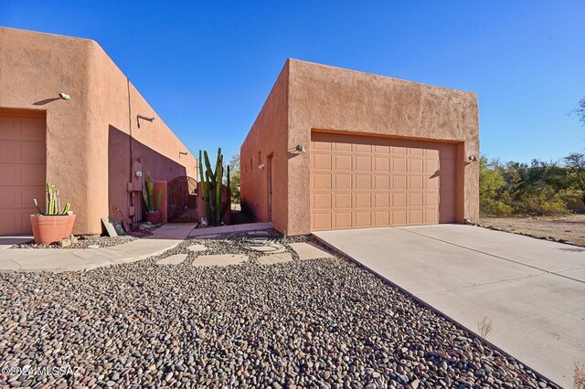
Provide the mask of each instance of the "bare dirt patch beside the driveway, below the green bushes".
POLYGON ((515 234, 567 240, 585 247, 585 215, 548 217, 483 217, 481 226, 493 226, 515 234))

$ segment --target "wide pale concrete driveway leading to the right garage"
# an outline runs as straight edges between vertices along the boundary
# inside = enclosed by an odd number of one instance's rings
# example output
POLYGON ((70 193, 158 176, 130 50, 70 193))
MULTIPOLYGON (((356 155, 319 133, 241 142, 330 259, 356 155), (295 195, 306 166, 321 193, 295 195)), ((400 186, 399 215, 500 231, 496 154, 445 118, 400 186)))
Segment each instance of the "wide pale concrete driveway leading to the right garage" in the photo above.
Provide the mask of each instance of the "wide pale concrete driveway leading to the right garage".
POLYGON ((476 226, 314 233, 549 379, 585 363, 585 248, 476 226))

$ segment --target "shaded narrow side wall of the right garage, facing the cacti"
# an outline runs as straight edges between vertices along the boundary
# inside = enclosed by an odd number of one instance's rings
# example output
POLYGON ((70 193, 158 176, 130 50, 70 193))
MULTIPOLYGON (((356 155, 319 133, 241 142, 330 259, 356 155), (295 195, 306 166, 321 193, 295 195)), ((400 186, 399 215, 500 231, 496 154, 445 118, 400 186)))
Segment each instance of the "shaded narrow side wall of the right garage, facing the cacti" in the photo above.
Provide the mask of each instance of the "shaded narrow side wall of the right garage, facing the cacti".
POLYGON ((240 200, 242 210, 258 220, 287 229, 288 213, 288 62, 240 149, 240 200), (268 161, 272 155, 272 216, 269 220, 268 161), (264 164, 264 169, 259 165, 264 164))

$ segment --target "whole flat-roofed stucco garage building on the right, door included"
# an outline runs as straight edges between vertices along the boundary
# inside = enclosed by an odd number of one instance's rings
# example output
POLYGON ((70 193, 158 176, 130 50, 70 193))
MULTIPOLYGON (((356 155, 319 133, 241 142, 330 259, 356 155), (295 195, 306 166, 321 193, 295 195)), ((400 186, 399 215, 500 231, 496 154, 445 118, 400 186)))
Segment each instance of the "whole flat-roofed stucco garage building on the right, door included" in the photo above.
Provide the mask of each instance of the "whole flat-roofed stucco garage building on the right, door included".
POLYGON ((289 235, 476 222, 473 93, 289 59, 240 149, 242 209, 289 235))

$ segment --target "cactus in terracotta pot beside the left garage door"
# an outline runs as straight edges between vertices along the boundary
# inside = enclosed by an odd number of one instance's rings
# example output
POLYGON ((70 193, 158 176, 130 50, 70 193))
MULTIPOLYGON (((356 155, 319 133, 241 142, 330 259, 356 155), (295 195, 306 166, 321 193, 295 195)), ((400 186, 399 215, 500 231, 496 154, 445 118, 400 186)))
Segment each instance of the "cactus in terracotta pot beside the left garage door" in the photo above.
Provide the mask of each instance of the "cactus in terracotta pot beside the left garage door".
POLYGON ((30 224, 33 227, 33 237, 37 245, 50 245, 64 237, 69 237, 73 232, 75 215, 69 209, 69 203, 61 208, 58 198, 58 186, 47 183, 47 209, 43 213, 34 199, 38 214, 30 216, 30 224))

